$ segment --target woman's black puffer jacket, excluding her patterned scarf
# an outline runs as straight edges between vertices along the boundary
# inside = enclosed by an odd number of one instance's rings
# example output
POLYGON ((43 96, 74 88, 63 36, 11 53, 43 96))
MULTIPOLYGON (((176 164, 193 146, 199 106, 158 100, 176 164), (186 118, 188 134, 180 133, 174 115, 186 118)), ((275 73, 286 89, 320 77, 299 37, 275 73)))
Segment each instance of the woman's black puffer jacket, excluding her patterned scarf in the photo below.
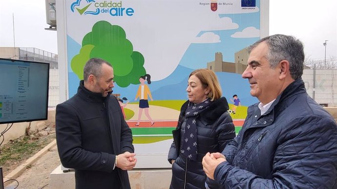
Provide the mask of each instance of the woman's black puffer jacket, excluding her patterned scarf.
MULTIPOLYGON (((189 101, 181 107, 177 129, 173 131, 173 143, 169 150, 169 163, 172 165, 170 189, 205 189, 206 174, 202 167, 202 158, 207 152, 222 151, 227 143, 235 137, 232 118, 225 97, 214 101, 207 111, 197 117, 198 155, 197 161, 187 160, 179 153, 181 147, 181 130, 185 129, 185 111, 189 101), (178 147, 178 148, 176 148, 178 147)), ((208 185, 217 187, 217 183, 208 179, 208 185)))

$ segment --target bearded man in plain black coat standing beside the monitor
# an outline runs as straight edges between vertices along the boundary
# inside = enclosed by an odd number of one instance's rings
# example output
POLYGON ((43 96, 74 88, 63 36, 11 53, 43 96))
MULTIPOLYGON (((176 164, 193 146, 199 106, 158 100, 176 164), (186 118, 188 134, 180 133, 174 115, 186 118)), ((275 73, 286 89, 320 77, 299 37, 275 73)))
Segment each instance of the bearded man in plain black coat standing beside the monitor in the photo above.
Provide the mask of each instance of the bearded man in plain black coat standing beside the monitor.
POLYGON ((75 169, 76 189, 130 189, 126 170, 137 159, 117 98, 113 68, 99 58, 84 66, 77 94, 56 107, 56 140, 64 167, 75 169))

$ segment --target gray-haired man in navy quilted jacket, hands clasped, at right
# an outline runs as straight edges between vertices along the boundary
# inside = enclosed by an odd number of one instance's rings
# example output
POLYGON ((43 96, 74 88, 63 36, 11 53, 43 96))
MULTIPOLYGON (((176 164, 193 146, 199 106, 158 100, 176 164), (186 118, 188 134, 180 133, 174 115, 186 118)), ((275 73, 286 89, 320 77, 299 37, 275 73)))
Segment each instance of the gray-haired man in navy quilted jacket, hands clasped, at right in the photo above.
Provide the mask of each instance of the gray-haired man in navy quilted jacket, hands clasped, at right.
POLYGON ((249 47, 242 74, 259 103, 222 154, 203 159, 226 189, 336 189, 337 125, 307 93, 303 45, 274 35, 249 47))

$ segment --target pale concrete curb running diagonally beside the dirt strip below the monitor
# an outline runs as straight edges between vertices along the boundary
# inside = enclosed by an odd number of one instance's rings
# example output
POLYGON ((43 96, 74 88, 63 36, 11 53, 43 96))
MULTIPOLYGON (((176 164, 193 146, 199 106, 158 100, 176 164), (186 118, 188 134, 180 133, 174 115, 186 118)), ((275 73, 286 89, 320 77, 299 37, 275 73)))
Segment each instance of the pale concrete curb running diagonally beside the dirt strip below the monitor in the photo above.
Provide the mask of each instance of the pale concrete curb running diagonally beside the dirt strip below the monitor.
MULTIPOLYGON (((16 179, 21 173, 27 169, 27 166, 32 165, 35 163, 43 154, 45 154, 49 149, 53 148, 56 145, 56 139, 45 146, 41 151, 37 152, 35 155, 27 159, 23 164, 17 167, 15 170, 12 170, 6 176, 3 177, 3 181, 7 181, 9 179, 16 179)), ((10 183, 10 182, 9 182, 10 183)), ((9 184, 6 183, 6 184, 9 184)))

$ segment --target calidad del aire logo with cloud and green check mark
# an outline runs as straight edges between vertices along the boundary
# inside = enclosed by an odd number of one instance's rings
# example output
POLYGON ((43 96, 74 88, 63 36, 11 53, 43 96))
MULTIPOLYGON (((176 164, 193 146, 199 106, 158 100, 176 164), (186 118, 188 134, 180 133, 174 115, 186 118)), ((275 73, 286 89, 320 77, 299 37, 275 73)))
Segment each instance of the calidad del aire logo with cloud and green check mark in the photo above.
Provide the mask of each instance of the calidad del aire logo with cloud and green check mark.
POLYGON ((72 12, 77 12, 80 15, 98 15, 109 14, 110 16, 132 16, 134 14, 133 8, 124 8, 122 1, 103 1, 97 2, 97 0, 76 0, 70 6, 72 12))

